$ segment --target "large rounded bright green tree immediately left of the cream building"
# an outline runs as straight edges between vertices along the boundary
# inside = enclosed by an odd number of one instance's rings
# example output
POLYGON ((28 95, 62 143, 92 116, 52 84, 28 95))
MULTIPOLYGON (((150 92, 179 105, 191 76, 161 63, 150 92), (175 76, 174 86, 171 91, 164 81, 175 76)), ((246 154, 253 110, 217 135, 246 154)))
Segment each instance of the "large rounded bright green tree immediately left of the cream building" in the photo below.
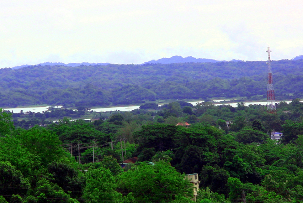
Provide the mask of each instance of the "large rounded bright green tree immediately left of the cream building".
POLYGON ((138 202, 190 202, 193 185, 166 162, 139 163, 120 174, 118 190, 138 202))

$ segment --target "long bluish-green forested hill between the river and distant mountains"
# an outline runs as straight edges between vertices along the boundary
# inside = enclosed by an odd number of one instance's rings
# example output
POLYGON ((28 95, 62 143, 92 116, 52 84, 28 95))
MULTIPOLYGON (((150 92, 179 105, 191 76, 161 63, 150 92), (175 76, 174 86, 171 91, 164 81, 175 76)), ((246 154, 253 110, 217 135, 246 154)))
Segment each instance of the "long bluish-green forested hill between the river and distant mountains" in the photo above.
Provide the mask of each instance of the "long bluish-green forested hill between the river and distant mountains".
MULTIPOLYGON (((276 99, 301 98, 303 60, 272 62, 276 99)), ((266 98, 265 61, 144 65, 35 65, 0 69, 0 107, 108 106, 158 99, 266 98)))

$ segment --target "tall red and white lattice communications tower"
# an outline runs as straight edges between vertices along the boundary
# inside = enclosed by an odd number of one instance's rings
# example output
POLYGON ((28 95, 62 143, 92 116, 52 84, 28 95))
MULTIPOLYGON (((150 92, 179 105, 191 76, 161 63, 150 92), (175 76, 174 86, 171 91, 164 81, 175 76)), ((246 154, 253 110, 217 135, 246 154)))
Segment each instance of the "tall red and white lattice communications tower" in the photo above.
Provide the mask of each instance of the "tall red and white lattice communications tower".
POLYGON ((268 61, 267 61, 267 112, 277 114, 276 103, 274 98, 274 83, 273 83, 273 73, 271 72, 270 67, 270 52, 269 47, 267 48, 268 61))

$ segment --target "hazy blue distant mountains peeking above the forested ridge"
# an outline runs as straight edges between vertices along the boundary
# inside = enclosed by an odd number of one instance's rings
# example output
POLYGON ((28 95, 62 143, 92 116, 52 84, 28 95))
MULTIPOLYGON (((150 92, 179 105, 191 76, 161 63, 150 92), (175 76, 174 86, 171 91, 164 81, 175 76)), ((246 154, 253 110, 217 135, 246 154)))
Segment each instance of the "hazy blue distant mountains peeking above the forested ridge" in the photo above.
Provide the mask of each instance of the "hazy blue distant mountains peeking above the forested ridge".
MULTIPOLYGON (((293 58, 292 60, 300 60, 303 59, 303 55, 300 56, 296 56, 295 58, 293 58)), ((233 59, 231 61, 243 61, 243 60, 236 60, 233 59)), ((202 59, 202 58, 194 58, 192 56, 188 56, 183 58, 182 56, 172 56, 170 58, 162 58, 162 59, 158 59, 158 60, 150 60, 147 62, 144 62, 141 65, 144 64, 172 64, 172 63, 217 63, 217 62, 227 62, 226 60, 214 60, 214 59, 202 59)), ((52 63, 52 62, 45 62, 45 63, 40 63, 37 65, 41 65, 41 66, 45 66, 45 65, 64 65, 64 66, 71 66, 71 67, 76 67, 76 66, 80 66, 80 65, 109 65, 110 63, 88 63, 88 62, 82 62, 82 63, 68 63, 68 64, 64 64, 64 63, 60 63, 60 62, 56 62, 56 63, 52 63)), ((19 69, 22 67, 28 67, 28 66, 34 66, 34 65, 19 65, 19 66, 15 66, 12 69, 19 69)))

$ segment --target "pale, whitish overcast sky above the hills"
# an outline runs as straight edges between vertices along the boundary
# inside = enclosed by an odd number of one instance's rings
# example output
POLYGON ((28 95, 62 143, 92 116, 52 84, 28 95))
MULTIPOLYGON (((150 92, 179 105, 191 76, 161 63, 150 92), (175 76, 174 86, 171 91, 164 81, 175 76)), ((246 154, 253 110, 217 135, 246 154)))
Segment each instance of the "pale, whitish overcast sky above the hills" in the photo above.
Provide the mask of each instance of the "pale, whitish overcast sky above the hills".
POLYGON ((0 0, 0 68, 303 55, 302 0, 0 0))

